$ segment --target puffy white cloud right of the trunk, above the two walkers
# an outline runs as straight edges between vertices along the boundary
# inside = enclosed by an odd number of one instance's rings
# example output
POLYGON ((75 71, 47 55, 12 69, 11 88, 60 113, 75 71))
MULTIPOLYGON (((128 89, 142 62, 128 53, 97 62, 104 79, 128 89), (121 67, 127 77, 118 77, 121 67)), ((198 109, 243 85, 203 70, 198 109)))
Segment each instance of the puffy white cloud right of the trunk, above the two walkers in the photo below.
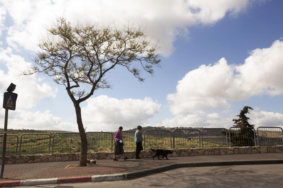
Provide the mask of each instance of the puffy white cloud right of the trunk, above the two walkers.
POLYGON ((87 131, 113 131, 119 126, 125 129, 145 125, 154 117, 160 108, 157 101, 146 97, 140 99, 109 98, 100 95, 89 98, 88 104, 82 108, 82 119, 87 131))

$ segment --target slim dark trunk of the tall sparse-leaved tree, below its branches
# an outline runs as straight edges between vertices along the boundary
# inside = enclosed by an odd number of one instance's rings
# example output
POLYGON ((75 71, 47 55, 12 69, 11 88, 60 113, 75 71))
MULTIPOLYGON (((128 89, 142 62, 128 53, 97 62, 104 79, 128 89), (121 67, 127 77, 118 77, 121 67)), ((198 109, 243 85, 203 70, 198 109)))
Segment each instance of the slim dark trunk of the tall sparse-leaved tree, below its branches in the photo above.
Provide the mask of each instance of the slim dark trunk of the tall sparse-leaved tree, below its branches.
POLYGON ((82 115, 80 110, 80 104, 75 103, 76 115, 77 115, 77 123, 78 129, 80 132, 80 140, 81 140, 81 154, 80 154, 80 167, 86 166, 87 160, 87 149, 88 149, 88 141, 86 140, 85 130, 83 128, 82 115))

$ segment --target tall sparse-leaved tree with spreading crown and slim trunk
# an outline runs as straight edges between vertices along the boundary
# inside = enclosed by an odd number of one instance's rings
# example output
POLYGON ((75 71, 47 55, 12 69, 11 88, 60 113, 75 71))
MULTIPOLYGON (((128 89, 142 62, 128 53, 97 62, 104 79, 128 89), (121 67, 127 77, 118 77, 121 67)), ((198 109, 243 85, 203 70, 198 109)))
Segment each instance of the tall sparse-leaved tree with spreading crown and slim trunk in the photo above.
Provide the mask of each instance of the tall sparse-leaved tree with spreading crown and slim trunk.
POLYGON ((115 66, 123 66, 143 82, 141 69, 153 75, 153 67, 159 67, 157 45, 147 40, 141 27, 123 28, 99 26, 91 23, 71 23, 65 18, 47 29, 38 46, 40 51, 32 57, 34 66, 23 75, 45 73, 55 83, 64 85, 72 100, 81 138, 80 167, 87 163, 87 139, 81 118, 80 103, 91 97, 99 88, 110 88, 106 72, 115 66), (136 66, 140 66, 136 68, 136 66), (90 90, 82 90, 83 84, 90 90))

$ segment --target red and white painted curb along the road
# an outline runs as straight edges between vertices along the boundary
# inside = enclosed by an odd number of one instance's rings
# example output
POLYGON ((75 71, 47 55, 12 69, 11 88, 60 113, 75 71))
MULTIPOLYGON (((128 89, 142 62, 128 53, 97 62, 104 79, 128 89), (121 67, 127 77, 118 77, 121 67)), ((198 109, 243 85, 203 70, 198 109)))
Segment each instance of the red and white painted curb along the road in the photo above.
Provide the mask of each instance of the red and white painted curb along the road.
POLYGON ((126 174, 112 174, 101 176, 84 176, 84 177, 65 177, 65 178, 51 178, 51 179, 29 179, 19 181, 0 182, 2 187, 20 187, 33 185, 47 185, 47 184, 64 184, 64 183, 83 183, 83 182, 104 182, 116 181, 126 179, 126 174))

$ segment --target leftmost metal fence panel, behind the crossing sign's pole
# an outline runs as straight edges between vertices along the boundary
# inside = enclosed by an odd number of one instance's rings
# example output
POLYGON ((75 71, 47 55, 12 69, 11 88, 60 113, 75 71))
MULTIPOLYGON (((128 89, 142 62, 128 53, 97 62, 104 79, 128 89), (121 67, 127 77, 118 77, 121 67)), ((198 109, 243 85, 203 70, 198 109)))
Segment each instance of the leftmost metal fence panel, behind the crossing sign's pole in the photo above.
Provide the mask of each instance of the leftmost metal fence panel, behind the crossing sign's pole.
MULTIPOLYGON (((19 137, 17 135, 7 135, 6 155, 17 155, 19 137)), ((3 135, 0 135, 0 156, 2 156, 3 135)))

